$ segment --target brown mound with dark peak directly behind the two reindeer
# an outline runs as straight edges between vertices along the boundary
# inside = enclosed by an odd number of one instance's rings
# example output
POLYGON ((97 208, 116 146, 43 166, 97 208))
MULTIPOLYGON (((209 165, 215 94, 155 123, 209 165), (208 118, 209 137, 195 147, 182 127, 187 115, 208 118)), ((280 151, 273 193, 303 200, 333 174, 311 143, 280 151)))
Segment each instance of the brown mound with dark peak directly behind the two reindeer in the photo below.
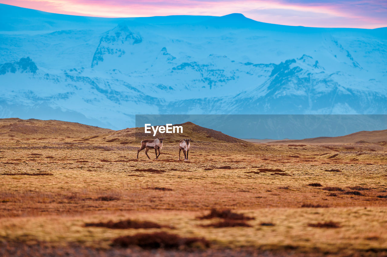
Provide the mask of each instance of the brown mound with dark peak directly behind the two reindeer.
MULTIPOLYGON (((246 142, 235 137, 223 134, 222 132, 200 127, 192 122, 183 124, 176 124, 174 126, 182 126, 183 133, 161 134, 157 133, 156 137, 164 137, 167 143, 179 142, 184 138, 191 138, 192 142, 196 143, 240 143, 252 146, 250 142, 246 142)), ((144 139, 154 139, 153 132, 147 134, 144 132, 144 127, 139 128, 125 128, 123 130, 113 130, 100 132, 83 137, 83 140, 98 141, 100 143, 117 143, 117 144, 139 144, 144 139)))

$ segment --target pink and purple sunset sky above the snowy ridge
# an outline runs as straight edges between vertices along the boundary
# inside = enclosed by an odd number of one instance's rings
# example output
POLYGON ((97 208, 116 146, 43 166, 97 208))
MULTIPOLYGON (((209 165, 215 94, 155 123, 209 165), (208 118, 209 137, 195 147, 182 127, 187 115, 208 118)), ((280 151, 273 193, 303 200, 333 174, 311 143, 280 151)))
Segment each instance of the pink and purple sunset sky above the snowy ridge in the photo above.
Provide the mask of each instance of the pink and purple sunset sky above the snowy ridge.
POLYGON ((387 27, 387 0, 0 0, 58 14, 149 17, 241 13, 260 22, 306 27, 387 27))

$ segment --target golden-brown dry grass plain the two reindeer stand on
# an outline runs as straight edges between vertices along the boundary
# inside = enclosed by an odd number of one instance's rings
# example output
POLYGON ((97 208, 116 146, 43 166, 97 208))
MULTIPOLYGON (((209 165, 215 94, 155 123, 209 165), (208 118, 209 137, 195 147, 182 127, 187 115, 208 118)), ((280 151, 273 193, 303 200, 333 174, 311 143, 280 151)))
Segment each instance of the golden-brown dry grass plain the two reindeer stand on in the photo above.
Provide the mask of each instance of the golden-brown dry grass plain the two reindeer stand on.
POLYGON ((148 160, 139 128, 0 120, 0 256, 387 255, 386 140, 251 144, 184 126, 148 160))

